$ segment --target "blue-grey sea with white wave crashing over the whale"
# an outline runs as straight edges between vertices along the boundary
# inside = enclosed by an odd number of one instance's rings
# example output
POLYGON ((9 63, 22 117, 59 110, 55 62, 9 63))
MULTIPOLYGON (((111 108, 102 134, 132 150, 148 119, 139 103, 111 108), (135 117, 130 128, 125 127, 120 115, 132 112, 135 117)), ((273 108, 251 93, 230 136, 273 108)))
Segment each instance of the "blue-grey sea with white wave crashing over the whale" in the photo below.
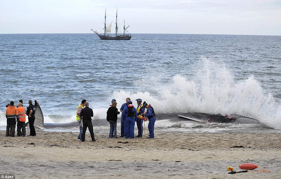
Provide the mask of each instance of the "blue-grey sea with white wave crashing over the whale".
POLYGON ((281 36, 132 34, 105 41, 96 34, 0 34, 0 63, 1 130, 10 101, 37 100, 45 123, 69 123, 82 99, 99 120, 112 98, 120 108, 130 97, 150 103, 156 118, 201 112, 261 122, 166 118, 156 121, 156 131, 281 132, 281 36))

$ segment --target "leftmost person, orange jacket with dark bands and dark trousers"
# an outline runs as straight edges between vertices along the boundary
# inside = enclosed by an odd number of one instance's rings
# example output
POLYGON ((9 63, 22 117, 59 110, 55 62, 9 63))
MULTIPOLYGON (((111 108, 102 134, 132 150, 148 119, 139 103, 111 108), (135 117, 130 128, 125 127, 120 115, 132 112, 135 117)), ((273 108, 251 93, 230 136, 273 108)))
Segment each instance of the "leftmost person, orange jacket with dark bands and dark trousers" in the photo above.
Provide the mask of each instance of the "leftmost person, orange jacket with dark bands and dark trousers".
POLYGON ((19 113, 17 108, 14 107, 14 101, 10 102, 10 106, 6 109, 7 127, 6 136, 14 137, 16 129, 16 118, 19 120, 19 113))

